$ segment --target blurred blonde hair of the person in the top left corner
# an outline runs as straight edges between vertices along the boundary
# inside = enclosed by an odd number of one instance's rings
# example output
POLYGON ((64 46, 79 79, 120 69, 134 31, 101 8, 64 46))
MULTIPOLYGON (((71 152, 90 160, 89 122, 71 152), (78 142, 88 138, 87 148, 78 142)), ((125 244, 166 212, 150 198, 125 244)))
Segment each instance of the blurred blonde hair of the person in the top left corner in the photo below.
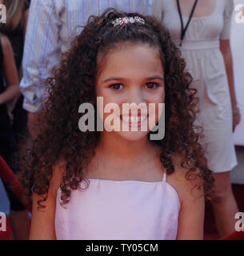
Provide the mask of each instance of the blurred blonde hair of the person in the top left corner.
POLYGON ((23 24, 23 11, 25 0, 5 0, 6 4, 6 29, 15 30, 23 24))

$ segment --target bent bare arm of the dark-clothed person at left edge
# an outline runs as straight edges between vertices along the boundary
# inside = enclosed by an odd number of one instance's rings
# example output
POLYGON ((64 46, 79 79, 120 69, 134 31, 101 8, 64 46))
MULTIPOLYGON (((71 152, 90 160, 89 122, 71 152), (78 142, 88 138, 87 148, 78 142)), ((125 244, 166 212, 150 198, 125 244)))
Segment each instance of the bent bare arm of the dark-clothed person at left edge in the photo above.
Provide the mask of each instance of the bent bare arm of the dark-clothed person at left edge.
POLYGON ((3 69, 6 78, 6 90, 0 94, 0 105, 9 102, 20 94, 18 72, 14 62, 14 52, 10 41, 1 35, 3 52, 3 69))

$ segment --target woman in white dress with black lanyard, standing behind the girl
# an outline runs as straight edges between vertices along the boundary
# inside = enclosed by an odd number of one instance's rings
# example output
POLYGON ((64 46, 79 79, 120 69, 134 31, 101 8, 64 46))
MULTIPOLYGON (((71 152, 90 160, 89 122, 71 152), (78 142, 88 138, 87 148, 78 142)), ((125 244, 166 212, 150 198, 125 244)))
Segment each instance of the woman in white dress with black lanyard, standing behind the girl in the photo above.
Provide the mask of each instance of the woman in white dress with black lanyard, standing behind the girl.
POLYGON ((230 170, 238 165, 232 133, 241 120, 230 50, 233 10, 233 0, 156 0, 153 10, 181 48, 194 78, 191 86, 198 90, 198 118, 216 186, 212 206, 222 237, 234 231, 238 212, 230 182, 230 170))

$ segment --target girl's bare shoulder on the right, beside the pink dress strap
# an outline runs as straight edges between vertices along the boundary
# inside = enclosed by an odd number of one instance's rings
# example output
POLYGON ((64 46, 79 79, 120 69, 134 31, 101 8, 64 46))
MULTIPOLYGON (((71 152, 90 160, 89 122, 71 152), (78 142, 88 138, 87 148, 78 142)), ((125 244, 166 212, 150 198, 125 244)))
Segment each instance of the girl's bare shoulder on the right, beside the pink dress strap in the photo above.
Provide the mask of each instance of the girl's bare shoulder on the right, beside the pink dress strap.
POLYGON ((202 189, 202 180, 198 174, 200 170, 196 168, 189 177, 186 178, 186 173, 189 169, 182 166, 184 156, 181 154, 173 154, 172 162, 174 165, 174 174, 167 176, 167 182, 178 192, 178 197, 181 203, 189 200, 204 198, 202 189))

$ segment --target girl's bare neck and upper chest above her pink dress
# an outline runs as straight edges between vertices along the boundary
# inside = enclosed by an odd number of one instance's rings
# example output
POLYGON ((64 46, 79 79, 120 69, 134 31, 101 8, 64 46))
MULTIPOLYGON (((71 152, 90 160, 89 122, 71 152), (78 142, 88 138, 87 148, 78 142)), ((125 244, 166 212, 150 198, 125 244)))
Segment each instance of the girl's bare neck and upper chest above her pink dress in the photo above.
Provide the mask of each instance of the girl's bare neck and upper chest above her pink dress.
POLYGON ((162 176, 161 149, 147 138, 128 141, 118 134, 102 133, 95 151, 84 170, 86 178, 152 181, 162 176))

